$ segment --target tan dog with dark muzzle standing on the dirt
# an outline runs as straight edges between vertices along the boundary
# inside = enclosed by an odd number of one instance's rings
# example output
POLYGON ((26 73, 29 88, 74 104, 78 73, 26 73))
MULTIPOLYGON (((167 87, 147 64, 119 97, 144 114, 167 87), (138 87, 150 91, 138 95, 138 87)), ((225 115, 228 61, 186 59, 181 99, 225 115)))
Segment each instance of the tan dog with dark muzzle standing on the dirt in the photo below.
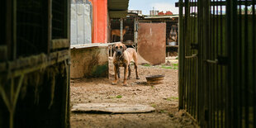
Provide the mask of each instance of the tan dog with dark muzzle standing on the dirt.
POLYGON ((129 71, 130 78, 130 61, 133 59, 135 61, 135 72, 136 72, 136 79, 140 79, 138 75, 138 56, 135 49, 128 48, 126 49, 126 45, 122 44, 121 42, 116 43, 113 47, 115 53, 113 55, 113 64, 115 70, 115 80, 112 82, 113 85, 116 85, 119 75, 119 67, 125 68, 125 75, 124 75, 124 86, 127 86, 126 79, 127 79, 127 71, 129 71), (118 75, 118 78, 117 78, 118 75))

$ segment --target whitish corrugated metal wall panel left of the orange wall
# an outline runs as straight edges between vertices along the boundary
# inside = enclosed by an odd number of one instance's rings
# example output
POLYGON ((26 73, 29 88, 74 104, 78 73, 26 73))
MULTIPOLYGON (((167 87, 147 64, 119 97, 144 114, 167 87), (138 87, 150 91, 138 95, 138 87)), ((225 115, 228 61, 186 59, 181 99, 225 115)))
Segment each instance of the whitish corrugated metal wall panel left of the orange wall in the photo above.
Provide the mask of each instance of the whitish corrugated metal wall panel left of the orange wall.
POLYGON ((72 2, 70 41, 71 45, 92 44, 91 2, 72 2))

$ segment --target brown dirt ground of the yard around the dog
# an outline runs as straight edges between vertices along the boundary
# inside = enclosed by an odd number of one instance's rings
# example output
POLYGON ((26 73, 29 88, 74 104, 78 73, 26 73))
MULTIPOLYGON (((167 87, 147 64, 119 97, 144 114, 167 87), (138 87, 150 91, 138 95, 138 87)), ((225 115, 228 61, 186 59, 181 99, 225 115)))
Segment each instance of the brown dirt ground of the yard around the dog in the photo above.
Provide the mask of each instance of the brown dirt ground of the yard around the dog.
MULTIPOLYGON (((135 69, 131 66, 128 87, 111 85, 114 79, 113 64, 110 63, 110 79, 90 78, 71 80, 71 106, 76 103, 128 103, 154 107, 156 111, 140 114, 87 114, 71 113, 71 127, 197 127, 183 111, 178 111, 178 59, 168 58, 165 66, 140 65, 140 79, 135 79, 135 69), (164 74, 164 83, 154 86, 146 83, 145 76, 164 74)), ((111 62, 111 59, 110 59, 111 62)))

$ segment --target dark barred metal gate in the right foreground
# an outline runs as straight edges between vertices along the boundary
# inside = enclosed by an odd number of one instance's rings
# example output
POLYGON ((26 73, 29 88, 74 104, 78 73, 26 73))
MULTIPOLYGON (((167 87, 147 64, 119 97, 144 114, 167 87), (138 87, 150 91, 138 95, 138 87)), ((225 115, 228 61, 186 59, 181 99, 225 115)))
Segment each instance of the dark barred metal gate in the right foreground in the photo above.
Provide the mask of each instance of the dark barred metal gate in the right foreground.
POLYGON ((256 127, 256 0, 179 0, 179 108, 201 127, 256 127))

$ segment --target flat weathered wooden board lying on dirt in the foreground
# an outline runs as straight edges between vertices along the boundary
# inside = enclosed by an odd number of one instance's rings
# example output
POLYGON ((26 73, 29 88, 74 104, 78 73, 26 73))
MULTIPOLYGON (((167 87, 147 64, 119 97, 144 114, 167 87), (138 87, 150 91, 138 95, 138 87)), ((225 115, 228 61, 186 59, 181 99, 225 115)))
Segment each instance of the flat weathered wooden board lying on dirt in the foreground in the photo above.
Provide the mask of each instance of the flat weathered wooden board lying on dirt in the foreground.
POLYGON ((83 103, 74 105, 73 112, 102 112, 102 113, 145 113, 154 111, 154 107, 146 105, 130 105, 116 103, 83 103))

